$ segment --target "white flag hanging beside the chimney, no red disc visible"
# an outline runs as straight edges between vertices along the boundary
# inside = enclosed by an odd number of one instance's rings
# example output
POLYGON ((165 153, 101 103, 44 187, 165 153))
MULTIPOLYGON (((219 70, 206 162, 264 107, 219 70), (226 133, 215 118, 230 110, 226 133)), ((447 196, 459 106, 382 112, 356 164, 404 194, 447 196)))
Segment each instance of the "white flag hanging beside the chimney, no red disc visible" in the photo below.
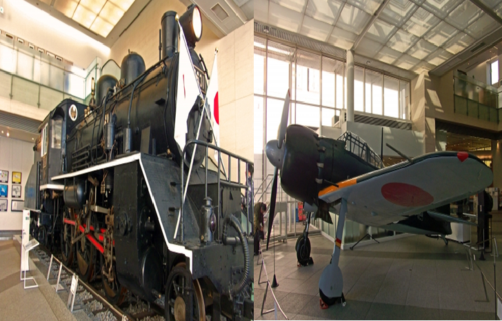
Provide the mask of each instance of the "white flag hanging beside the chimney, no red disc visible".
POLYGON ((194 65, 181 25, 179 25, 179 42, 178 92, 176 118, 174 119, 174 139, 183 150, 188 132, 188 114, 190 114, 197 96, 201 94, 201 88, 195 77, 194 65))

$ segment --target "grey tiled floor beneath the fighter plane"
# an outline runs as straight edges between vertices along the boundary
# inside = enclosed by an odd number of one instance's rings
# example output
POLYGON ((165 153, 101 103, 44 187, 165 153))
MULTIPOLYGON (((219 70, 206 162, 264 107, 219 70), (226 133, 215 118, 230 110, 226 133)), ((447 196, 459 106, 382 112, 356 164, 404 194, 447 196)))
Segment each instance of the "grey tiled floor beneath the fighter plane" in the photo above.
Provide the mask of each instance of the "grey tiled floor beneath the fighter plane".
MULTIPOLYGON (((494 216, 493 236, 502 236, 502 214, 494 216)), ((323 236, 310 237, 314 265, 297 267, 296 240, 278 242, 275 249, 277 300, 292 320, 484 320, 494 319, 494 292, 488 284, 485 300, 481 272, 466 269, 464 246, 426 236, 408 236, 342 251, 340 267, 346 307, 335 304, 319 308, 319 278, 330 262, 333 243, 323 236)), ((502 241, 502 237, 501 237, 502 241)), ((497 242, 502 249, 502 242, 497 242)), ((264 252, 270 280, 274 276, 273 251, 264 252)), ((493 284, 493 258, 476 263, 493 284)), ((479 253, 477 254, 479 258, 479 253)), ((265 283, 258 284, 261 265, 254 258, 254 315, 257 320, 274 319, 261 315, 265 283)), ((502 289, 502 262, 496 266, 497 284, 502 289)), ((262 280, 264 276, 262 275, 262 280)), ((500 292, 500 291, 499 291, 500 292)), ((268 294, 265 310, 274 302, 268 294)), ((283 316, 278 315, 279 319, 283 316)))

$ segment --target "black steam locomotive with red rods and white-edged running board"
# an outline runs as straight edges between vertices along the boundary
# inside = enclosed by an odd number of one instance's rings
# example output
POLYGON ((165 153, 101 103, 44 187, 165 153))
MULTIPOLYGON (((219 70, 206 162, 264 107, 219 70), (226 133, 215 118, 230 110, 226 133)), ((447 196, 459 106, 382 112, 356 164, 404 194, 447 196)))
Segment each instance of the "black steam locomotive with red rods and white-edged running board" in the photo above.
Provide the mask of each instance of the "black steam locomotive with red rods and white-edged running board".
POLYGON ((101 76, 88 105, 59 103, 39 127, 25 207, 30 233, 83 280, 101 278, 114 304, 127 291, 148 302, 164 293, 166 320, 252 319, 252 239, 239 220, 246 186, 222 160, 252 163, 211 144, 207 70, 194 51, 201 32, 197 6, 165 12, 158 63, 145 70, 130 52, 121 79, 101 76), (180 25, 202 92, 183 148, 174 139, 180 25))

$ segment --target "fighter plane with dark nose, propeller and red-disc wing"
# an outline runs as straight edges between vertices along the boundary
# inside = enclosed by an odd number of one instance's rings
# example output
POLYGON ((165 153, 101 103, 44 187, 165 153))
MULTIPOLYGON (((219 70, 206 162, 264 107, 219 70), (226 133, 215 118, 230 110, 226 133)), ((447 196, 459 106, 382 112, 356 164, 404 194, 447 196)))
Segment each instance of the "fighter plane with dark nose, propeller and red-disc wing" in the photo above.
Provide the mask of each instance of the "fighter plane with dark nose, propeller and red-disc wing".
MULTIPOLYGON (((339 213, 330 264, 319 280, 321 308, 343 298, 343 277, 338 266, 345 218, 363 225, 412 234, 452 234, 450 222, 474 223, 454 218, 440 207, 477 194, 488 187, 493 174, 479 158, 466 152, 434 152, 383 167, 380 157, 359 136, 345 132, 340 138, 319 136, 301 125, 288 126, 290 92, 285 97, 277 140, 265 152, 274 165, 268 222, 267 249, 272 230, 277 176, 293 198, 303 201, 315 217, 332 223, 329 210, 339 213)), ((448 207, 449 209, 449 207, 448 207)), ((308 214, 307 222, 310 223, 308 214)), ((297 258, 310 258, 308 225, 297 240, 297 258)))

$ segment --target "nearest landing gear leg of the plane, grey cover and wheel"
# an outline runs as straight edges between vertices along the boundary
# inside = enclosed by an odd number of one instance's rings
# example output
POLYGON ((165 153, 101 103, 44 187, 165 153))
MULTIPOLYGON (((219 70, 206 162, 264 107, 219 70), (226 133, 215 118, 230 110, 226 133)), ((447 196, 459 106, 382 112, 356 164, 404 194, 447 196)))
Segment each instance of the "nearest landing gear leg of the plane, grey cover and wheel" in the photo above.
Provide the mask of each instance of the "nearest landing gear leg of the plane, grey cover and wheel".
POLYGON ((324 268, 319 279, 319 304, 321 309, 328 307, 336 302, 341 302, 345 307, 345 298, 343 297, 343 276, 338 266, 341 252, 341 238, 343 235, 343 225, 345 225, 345 214, 347 214, 347 200, 341 200, 340 214, 338 219, 337 234, 334 240, 333 255, 330 264, 324 268))

